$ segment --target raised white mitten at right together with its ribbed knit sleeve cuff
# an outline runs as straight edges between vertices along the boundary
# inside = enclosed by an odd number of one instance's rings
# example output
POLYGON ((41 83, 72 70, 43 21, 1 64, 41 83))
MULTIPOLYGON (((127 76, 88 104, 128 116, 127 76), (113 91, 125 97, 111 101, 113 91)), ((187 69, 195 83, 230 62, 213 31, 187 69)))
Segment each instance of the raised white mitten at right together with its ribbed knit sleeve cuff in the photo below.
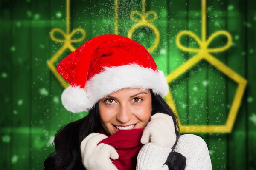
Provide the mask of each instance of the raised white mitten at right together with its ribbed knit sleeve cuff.
POLYGON ((172 117, 163 113, 151 116, 140 142, 144 145, 137 156, 136 170, 168 170, 164 163, 176 142, 172 117))

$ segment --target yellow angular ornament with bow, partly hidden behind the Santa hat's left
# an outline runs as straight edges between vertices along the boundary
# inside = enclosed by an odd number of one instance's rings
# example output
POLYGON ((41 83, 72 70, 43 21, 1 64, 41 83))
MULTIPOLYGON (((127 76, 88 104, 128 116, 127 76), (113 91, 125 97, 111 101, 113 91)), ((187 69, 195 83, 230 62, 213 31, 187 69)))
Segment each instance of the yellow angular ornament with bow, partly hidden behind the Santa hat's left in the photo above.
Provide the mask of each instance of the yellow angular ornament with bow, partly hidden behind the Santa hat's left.
POLYGON ((60 28, 53 28, 52 31, 50 32, 50 38, 55 41, 55 42, 64 42, 64 45, 61 46, 61 48, 52 56, 51 59, 49 59, 49 61, 47 61, 47 66, 50 68, 50 70, 52 71, 52 73, 55 75, 55 77, 58 79, 58 81, 61 83, 61 85, 64 88, 67 88, 68 86, 70 86, 70 84, 68 82, 66 82, 66 80, 61 77, 61 75, 58 73, 58 71, 56 70, 56 67, 54 65, 55 61, 57 61, 57 59, 61 56, 61 54, 69 49, 71 52, 75 51, 76 48, 72 45, 72 43, 76 43, 76 42, 81 42, 82 40, 84 40, 86 33, 82 28, 76 28, 74 29, 71 33, 70 33, 70 0, 66 0, 66 33, 61 30, 60 28), (63 35, 64 39, 58 39, 54 37, 54 33, 60 33, 63 35), (80 32, 82 34, 82 37, 78 38, 78 39, 72 39, 74 34, 77 34, 78 32, 80 32))

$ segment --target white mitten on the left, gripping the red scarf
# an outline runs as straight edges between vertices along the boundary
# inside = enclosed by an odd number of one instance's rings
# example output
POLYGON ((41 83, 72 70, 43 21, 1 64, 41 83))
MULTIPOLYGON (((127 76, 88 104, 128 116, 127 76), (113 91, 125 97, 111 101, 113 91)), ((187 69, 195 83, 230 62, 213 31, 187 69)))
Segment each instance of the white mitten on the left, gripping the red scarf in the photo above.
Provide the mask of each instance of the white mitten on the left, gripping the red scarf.
POLYGON ((87 170, 118 170, 111 161, 119 158, 116 149, 108 144, 97 145, 107 137, 104 134, 91 133, 81 142, 82 163, 87 170))

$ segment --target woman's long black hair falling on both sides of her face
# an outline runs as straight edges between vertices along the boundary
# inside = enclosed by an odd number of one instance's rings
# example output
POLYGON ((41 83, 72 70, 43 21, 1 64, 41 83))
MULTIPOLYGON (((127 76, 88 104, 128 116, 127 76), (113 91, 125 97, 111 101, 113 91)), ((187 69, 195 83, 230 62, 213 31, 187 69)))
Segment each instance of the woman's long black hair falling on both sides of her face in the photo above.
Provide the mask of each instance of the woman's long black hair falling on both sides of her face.
MULTIPOLYGON (((175 133, 177 140, 172 147, 172 152, 169 154, 166 164, 169 170, 184 170, 186 158, 180 153, 174 151, 177 141, 180 136, 180 128, 175 116, 169 105, 163 98, 154 94, 150 89, 152 97, 152 115, 155 113, 165 113, 172 116, 175 124, 175 133)), ((44 161, 45 170, 85 170, 80 152, 80 143, 90 133, 96 132, 100 126, 99 103, 89 111, 88 115, 75 122, 71 122, 58 129, 54 138, 55 151, 51 153, 44 161)))

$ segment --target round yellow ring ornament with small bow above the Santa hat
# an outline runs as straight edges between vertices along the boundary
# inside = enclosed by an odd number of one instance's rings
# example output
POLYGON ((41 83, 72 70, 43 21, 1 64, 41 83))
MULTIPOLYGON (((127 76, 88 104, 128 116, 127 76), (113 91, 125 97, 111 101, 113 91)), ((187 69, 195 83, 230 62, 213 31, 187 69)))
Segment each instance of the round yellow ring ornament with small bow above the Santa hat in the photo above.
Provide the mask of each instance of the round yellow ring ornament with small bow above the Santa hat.
POLYGON ((140 13, 139 11, 132 11, 130 17, 131 17, 131 20, 137 22, 137 24, 133 25, 131 27, 131 29, 128 31, 128 38, 130 38, 130 39, 132 38, 132 34, 136 28, 138 28, 140 26, 147 26, 154 31, 154 34, 156 36, 156 40, 155 40, 154 44, 150 48, 148 48, 148 52, 154 51, 154 49, 157 48, 157 46, 159 45, 160 34, 159 34, 158 29, 150 22, 157 19, 157 13, 155 11, 148 11, 146 13, 145 12, 145 0, 142 0, 142 13, 140 13), (147 19, 148 16, 151 14, 153 14, 153 18, 147 19), (136 19, 136 15, 139 16, 140 19, 136 19))

